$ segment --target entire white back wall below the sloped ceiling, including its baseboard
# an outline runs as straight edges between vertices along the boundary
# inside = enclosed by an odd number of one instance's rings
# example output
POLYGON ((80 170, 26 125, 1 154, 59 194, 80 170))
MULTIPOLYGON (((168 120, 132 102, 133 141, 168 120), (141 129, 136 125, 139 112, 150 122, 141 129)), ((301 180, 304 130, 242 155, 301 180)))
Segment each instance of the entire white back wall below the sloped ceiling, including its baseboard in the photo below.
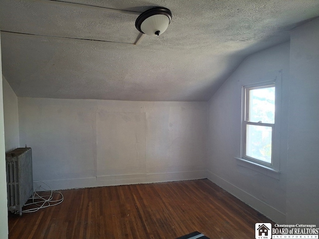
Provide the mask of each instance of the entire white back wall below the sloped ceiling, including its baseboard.
POLYGON ((20 145, 54 189, 206 177, 207 103, 18 98, 20 145))

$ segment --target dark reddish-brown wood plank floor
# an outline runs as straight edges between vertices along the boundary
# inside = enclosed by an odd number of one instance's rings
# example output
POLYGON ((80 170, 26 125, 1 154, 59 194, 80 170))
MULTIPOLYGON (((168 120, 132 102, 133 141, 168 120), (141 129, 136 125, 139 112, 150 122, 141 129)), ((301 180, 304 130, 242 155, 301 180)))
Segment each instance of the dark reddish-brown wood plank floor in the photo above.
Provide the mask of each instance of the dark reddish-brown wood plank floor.
POLYGON ((57 206, 9 214, 9 239, 247 239, 273 223, 207 179, 61 192, 57 206))

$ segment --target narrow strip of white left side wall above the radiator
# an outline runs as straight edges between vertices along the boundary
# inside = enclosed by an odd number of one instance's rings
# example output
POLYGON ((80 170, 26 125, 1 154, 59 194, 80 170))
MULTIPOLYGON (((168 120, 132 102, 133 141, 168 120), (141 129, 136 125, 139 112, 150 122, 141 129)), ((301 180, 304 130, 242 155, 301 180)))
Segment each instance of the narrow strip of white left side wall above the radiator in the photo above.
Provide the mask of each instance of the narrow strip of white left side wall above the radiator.
POLYGON ((5 152, 19 147, 18 98, 2 76, 5 152))

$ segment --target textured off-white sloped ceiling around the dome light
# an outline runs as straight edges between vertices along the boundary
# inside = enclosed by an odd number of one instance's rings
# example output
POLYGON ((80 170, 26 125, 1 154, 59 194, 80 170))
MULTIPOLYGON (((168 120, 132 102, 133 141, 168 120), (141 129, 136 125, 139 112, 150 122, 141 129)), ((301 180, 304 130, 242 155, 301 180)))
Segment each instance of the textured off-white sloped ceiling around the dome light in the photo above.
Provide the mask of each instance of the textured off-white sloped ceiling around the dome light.
POLYGON ((207 101, 245 57, 319 15, 319 0, 68 2, 0 1, 2 74, 17 96, 207 101), (134 45, 153 6, 172 21, 134 45))

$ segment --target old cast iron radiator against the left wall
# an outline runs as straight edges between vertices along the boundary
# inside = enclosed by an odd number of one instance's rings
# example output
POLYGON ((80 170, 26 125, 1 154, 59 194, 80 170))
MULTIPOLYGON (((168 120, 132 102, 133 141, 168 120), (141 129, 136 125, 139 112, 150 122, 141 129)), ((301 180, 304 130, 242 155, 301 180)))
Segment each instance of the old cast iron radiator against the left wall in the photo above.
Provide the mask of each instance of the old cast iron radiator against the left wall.
POLYGON ((5 154, 8 211, 19 212, 33 193, 32 150, 16 148, 5 154))

